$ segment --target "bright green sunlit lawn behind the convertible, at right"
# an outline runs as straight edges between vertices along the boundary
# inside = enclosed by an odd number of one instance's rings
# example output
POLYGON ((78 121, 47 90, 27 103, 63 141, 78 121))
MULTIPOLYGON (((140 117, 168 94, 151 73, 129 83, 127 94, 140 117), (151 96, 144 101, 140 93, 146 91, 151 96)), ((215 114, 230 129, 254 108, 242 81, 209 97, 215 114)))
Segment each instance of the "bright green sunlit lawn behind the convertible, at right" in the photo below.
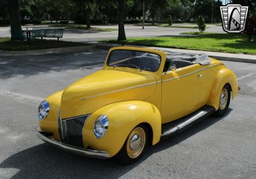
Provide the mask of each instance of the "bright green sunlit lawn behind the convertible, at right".
POLYGON ((243 34, 221 33, 183 33, 191 36, 166 36, 150 38, 129 38, 118 42, 108 40, 104 42, 122 43, 129 45, 145 45, 152 47, 169 47, 176 49, 191 49, 198 51, 229 52, 241 54, 256 54, 256 42, 246 41, 243 34))

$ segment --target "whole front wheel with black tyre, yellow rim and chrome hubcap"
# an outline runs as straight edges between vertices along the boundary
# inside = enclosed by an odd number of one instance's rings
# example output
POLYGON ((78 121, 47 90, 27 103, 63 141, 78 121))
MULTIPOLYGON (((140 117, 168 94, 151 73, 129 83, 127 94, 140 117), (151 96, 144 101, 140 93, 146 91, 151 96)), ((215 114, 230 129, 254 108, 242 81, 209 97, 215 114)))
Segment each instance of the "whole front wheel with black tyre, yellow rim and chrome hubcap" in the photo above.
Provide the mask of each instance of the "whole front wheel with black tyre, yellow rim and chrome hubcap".
POLYGON ((132 129, 116 158, 123 164, 132 164, 141 158, 147 148, 148 130, 145 125, 132 129))

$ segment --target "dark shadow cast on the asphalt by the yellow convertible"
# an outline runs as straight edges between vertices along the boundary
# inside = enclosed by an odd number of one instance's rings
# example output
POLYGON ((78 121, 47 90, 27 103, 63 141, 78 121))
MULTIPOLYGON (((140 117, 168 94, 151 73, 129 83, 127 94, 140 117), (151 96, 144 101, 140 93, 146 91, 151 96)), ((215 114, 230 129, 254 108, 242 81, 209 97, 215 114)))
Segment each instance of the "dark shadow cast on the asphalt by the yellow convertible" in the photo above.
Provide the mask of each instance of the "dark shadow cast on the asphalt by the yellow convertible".
MULTIPOLYGON (((228 109, 225 116, 231 111, 228 109)), ((147 160, 150 155, 182 143, 197 132, 223 120, 225 116, 210 116, 156 146, 149 146, 141 160, 129 166, 118 164, 115 159, 81 157, 43 143, 8 157, 0 164, 0 168, 19 169, 12 178, 118 178, 147 160)))

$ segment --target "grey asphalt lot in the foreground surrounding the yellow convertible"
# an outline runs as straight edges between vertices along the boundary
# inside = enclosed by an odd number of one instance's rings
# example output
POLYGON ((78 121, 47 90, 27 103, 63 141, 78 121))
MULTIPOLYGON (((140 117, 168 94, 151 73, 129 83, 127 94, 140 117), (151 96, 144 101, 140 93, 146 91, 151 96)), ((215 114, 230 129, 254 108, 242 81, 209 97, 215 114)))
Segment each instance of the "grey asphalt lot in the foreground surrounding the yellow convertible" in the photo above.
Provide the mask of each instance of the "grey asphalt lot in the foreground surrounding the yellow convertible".
POLYGON ((256 178, 256 64, 225 61, 241 86, 227 115, 149 147, 136 164, 88 159, 40 141, 38 104, 102 68, 106 53, 0 54, 0 178, 256 178))

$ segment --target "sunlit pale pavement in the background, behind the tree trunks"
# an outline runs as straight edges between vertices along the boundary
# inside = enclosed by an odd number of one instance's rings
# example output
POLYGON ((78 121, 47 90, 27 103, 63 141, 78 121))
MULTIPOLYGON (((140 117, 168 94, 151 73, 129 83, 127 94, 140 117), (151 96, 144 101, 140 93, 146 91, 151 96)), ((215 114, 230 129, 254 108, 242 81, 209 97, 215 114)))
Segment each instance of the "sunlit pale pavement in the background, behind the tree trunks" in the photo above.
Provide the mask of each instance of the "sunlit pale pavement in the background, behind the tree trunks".
MULTIPOLYGON (((196 26, 195 24, 173 24, 179 26, 196 26)), ((112 26, 93 26, 98 28, 114 28, 118 29, 118 25, 112 26)), ((206 32, 211 33, 224 33, 221 26, 215 26, 207 24, 206 32)), ((145 26, 142 29, 141 26, 125 25, 125 35, 127 38, 131 37, 152 37, 152 36, 176 36, 185 32, 198 32, 198 29, 193 28, 177 28, 177 27, 157 27, 157 26, 145 26)), ((118 31, 88 31, 86 29, 65 29, 64 35, 61 40, 72 42, 93 42, 99 40, 116 39, 118 31)), ((9 27, 0 27, 0 37, 10 37, 9 27)))

